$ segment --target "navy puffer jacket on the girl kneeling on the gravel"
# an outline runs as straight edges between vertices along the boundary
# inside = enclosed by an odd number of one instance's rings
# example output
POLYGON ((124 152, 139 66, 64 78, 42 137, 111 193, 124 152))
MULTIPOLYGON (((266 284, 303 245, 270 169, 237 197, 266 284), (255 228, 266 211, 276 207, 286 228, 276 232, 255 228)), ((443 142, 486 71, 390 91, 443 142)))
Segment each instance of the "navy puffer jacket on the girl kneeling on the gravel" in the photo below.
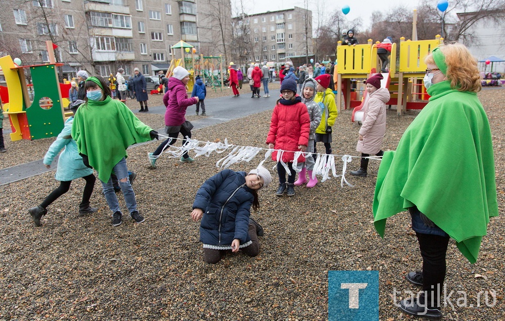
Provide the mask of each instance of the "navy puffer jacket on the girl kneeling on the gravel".
POLYGON ((234 239, 239 239, 240 244, 250 241, 247 230, 254 195, 245 185, 245 175, 226 169, 198 189, 193 209, 204 211, 200 224, 202 243, 225 246, 234 239))

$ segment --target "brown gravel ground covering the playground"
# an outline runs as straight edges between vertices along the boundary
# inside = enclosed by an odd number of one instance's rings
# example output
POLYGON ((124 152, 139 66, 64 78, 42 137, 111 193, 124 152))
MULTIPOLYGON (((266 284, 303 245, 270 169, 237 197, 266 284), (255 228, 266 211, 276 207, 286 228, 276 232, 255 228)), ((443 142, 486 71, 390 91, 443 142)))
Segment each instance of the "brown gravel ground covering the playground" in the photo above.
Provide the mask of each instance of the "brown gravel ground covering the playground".
MULTIPOLYGON (((479 97, 493 133, 502 212, 505 90, 486 88, 479 97)), ((149 103, 156 105, 155 99, 149 103)), ((136 103, 128 105, 137 108, 136 103)), ((416 114, 397 118, 394 110, 388 111, 385 150, 396 147, 416 114)), ((351 123, 350 117, 350 111, 342 111, 335 123, 335 154, 358 155, 359 125, 351 123)), ((162 127, 162 115, 140 114, 139 118, 151 127, 162 127)), ((196 130, 193 138, 227 137, 232 144, 264 147, 269 122, 270 112, 264 112, 254 119, 196 130)), ((0 154, 1 167, 40 159, 51 142, 12 143, 7 138, 9 151, 0 154)), ((198 223, 190 220, 189 213, 200 184, 219 171, 215 164, 220 157, 200 156, 192 164, 162 157, 158 169, 151 169, 146 154, 157 145, 129 150, 129 169, 138 174, 133 187, 146 219, 140 225, 125 218, 121 226, 112 227, 99 184, 91 198, 98 213, 78 218, 84 181, 77 180, 48 208, 43 226, 36 228, 26 209, 58 186, 54 172, 0 187, 0 320, 324 320, 328 318, 329 270, 379 271, 380 319, 409 319, 392 306, 393 290, 401 292, 399 296, 417 290, 404 276, 421 268, 420 253, 407 212, 388 220, 384 240, 374 230, 371 205, 377 161, 370 162, 368 178, 347 176, 355 187, 341 188, 340 180, 333 178, 313 189, 296 187, 292 198, 275 196, 276 173, 272 171, 274 183, 260 192, 261 208, 253 212, 265 229, 260 255, 229 254, 210 265, 203 261, 198 223)), ((232 169, 254 168, 261 158, 232 169)), ((358 168, 359 160, 349 167, 358 168)), ((122 202, 122 196, 119 199, 122 202)), ((505 319, 505 272, 500 256, 504 227, 501 217, 491 220, 479 260, 473 265, 453 241, 449 243, 446 284, 447 292, 455 293, 454 307, 443 309, 444 319, 505 319), (478 292, 487 290, 496 291, 495 304, 487 307, 481 300, 476 307, 478 292), (458 306, 463 300, 456 302, 462 297, 456 291, 466 291, 467 305, 474 306, 458 306)))

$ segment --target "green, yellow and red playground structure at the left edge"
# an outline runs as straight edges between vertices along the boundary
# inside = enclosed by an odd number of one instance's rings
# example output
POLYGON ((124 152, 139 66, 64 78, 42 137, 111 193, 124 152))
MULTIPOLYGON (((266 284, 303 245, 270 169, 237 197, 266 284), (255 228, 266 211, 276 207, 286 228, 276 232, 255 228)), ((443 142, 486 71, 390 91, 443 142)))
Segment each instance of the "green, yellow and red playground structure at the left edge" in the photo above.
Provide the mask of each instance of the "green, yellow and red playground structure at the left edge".
MULTIPOLYGON (((48 64, 18 66, 10 56, 0 58, 8 92, 7 98, 2 94, 2 102, 6 101, 4 114, 9 116, 12 141, 55 137, 64 127, 64 102, 56 70, 56 67, 63 64, 56 63, 53 43, 46 41, 46 46, 49 52, 48 64), (32 78, 32 101, 28 93, 25 70, 29 70, 32 78)), ((68 89, 66 91, 68 101, 68 89)))

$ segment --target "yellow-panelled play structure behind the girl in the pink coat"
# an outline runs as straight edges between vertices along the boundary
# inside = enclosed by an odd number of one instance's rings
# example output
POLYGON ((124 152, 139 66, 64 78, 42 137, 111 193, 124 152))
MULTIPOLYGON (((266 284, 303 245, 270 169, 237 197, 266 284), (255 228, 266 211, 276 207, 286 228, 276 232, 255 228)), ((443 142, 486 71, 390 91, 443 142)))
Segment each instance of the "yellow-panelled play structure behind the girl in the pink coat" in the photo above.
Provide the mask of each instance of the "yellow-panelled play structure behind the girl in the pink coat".
MULTIPOLYGON (((442 42, 443 38, 439 35, 432 40, 416 41, 405 40, 401 37, 397 70, 396 43, 392 44, 390 69, 388 73, 383 73, 383 76, 386 79, 386 88, 391 94, 391 99, 387 104, 397 106, 398 116, 403 115, 408 109, 422 109, 428 102, 429 95, 423 86, 423 77, 427 68, 424 57, 442 42)), ((355 108, 357 112, 363 105, 360 91, 364 90, 357 88, 356 80, 364 80, 380 70, 376 45, 372 43, 372 39, 369 39, 367 44, 354 46, 342 45, 342 42, 338 41, 336 55, 337 108, 341 109, 343 96, 344 109, 355 108), (353 86, 355 88, 351 88, 353 86)))

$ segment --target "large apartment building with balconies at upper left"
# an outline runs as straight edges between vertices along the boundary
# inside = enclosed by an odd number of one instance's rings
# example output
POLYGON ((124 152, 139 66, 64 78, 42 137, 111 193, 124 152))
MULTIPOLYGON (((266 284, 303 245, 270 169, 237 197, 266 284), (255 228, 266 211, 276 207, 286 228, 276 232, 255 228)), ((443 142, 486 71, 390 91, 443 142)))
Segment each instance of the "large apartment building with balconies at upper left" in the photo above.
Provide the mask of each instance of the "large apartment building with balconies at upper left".
MULTIPOLYGON (((137 67, 154 75, 168 68, 171 46, 181 39, 199 53, 198 20, 209 12, 204 1, 210 2, 202 0, 199 10, 195 0, 4 0, 0 56, 46 63, 45 41, 51 40, 59 46, 63 78, 79 69, 108 76, 120 67, 126 74, 137 67)), ((222 3, 222 15, 231 17, 230 0, 212 2, 222 3)), ((219 41, 201 29, 206 42, 219 41)), ((215 49, 207 55, 219 55, 215 49)))

